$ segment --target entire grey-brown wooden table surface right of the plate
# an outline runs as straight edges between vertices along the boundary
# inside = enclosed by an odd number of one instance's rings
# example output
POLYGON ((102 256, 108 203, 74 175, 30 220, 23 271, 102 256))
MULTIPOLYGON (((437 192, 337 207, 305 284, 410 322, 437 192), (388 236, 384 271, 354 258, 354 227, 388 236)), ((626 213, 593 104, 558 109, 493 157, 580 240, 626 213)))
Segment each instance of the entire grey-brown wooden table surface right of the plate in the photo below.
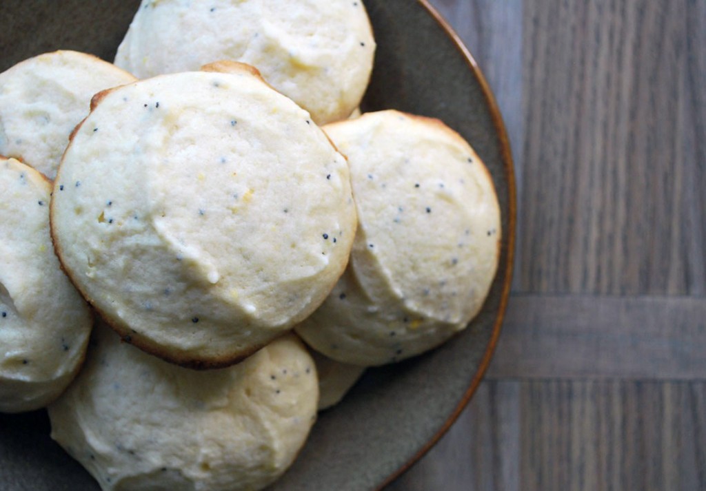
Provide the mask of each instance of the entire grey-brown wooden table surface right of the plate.
POLYGON ((513 147, 484 382, 386 491, 706 490, 706 0, 431 0, 513 147))

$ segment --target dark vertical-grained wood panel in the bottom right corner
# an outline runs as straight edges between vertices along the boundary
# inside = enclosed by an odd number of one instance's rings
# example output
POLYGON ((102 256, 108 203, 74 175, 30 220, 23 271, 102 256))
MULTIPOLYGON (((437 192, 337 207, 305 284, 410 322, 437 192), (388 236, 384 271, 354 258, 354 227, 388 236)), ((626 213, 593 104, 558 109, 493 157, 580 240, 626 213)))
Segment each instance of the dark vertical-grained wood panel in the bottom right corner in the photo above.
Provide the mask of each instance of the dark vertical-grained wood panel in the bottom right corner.
MULTIPOLYGON (((529 382, 522 386, 525 489, 698 490, 702 382, 529 382), (677 415, 680 415, 677 417, 677 415), (662 424, 660 424, 662 423, 662 424), (545 485, 546 483, 546 485, 545 485)), ((701 467, 699 467, 701 466, 701 467)))

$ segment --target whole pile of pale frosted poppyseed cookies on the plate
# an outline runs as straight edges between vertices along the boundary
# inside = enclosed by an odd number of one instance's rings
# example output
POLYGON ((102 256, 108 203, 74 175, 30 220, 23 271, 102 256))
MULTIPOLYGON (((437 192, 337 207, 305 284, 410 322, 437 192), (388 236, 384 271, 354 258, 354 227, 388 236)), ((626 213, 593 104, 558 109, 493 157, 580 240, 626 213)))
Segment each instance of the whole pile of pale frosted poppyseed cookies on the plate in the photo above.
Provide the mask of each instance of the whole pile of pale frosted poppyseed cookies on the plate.
POLYGON ((0 74, 0 411, 49 404, 104 490, 261 489, 366 367, 464 329, 493 183, 441 121, 347 119, 374 51, 357 1, 143 0, 120 68, 0 74))

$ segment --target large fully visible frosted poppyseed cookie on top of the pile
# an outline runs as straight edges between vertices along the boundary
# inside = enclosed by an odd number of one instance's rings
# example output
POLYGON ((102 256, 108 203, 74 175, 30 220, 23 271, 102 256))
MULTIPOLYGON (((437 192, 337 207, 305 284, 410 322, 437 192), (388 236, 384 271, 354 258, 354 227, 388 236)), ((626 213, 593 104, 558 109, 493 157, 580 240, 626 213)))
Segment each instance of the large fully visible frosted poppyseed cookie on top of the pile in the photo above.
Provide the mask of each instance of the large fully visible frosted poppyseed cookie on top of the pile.
POLYGON ((235 363, 315 310, 356 226, 345 157, 309 114, 221 66, 95 97, 52 198, 78 289, 125 341, 193 368, 235 363))

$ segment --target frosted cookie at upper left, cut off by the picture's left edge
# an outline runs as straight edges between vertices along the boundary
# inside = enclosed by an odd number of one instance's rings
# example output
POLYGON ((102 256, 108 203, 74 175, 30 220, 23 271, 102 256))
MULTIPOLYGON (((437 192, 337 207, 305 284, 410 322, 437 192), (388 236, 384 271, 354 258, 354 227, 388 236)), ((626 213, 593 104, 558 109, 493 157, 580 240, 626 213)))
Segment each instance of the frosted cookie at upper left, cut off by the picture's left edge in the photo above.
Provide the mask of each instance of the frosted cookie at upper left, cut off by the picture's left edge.
POLYGON ((136 80, 90 54, 54 51, 0 73, 0 154, 50 179, 96 92, 136 80))

